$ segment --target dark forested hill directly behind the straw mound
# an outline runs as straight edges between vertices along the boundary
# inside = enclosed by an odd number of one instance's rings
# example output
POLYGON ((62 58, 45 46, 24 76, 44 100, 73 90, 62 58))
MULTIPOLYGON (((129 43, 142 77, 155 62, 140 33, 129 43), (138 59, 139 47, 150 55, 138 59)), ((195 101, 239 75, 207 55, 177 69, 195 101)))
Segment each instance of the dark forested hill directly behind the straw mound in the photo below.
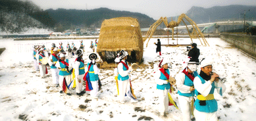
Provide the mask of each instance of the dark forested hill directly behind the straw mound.
POLYGON ((75 26, 95 26, 97 28, 100 28, 103 20, 121 16, 130 16, 132 18, 137 18, 140 22, 141 28, 149 27, 149 25, 155 22, 153 18, 150 18, 145 14, 128 11, 114 11, 107 8, 92 10, 47 9, 46 12, 48 12, 49 15, 53 17, 57 23, 61 24, 61 26, 73 24, 75 26))

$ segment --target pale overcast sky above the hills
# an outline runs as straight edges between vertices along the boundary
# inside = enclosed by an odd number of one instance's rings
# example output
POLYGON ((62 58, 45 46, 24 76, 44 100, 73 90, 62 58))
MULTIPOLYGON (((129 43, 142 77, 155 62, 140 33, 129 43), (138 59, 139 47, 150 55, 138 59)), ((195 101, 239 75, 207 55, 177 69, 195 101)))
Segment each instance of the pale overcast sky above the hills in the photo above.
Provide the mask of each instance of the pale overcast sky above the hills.
POLYGON ((140 12, 158 20, 186 13, 192 6, 210 8, 226 5, 256 5, 256 0, 31 0, 41 9, 98 9, 140 12))

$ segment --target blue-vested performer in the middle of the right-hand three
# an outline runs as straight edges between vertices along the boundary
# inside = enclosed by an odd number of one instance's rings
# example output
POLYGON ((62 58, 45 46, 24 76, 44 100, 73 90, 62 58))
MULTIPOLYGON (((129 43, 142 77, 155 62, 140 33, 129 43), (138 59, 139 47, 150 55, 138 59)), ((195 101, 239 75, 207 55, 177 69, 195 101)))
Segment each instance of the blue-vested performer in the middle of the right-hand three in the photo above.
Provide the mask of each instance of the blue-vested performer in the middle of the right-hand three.
POLYGON ((196 62, 186 62, 185 66, 176 76, 176 86, 178 89, 178 101, 180 103, 180 110, 182 111, 183 121, 190 121, 193 111, 193 97, 195 96, 195 88, 193 87, 193 80, 198 75, 196 62))

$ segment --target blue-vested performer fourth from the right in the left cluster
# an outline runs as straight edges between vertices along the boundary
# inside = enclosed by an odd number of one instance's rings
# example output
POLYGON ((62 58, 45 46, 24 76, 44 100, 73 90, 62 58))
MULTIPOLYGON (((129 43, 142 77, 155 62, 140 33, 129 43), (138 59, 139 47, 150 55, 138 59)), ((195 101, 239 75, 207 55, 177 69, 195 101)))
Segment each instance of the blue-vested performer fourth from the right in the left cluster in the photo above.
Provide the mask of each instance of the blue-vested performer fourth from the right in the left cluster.
POLYGON ((53 84, 55 84, 56 86, 59 85, 59 69, 55 66, 57 61, 59 61, 58 48, 55 47, 53 49, 53 53, 49 57, 48 63, 49 66, 51 66, 51 76, 53 78, 53 84))

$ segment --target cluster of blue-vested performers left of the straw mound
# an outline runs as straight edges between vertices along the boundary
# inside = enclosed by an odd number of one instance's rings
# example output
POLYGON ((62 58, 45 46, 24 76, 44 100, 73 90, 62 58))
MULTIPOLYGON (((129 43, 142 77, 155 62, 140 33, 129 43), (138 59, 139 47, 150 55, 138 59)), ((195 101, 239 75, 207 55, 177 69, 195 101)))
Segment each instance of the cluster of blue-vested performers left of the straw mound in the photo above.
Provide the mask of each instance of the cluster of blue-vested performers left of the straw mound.
MULTIPOLYGON (((67 45, 67 50, 69 49, 67 45)), ((67 95, 71 95, 71 89, 75 87, 76 95, 84 95, 85 91, 82 88, 84 82, 86 82, 86 91, 90 91, 91 97, 97 98, 99 95, 98 91, 101 89, 101 83, 99 81, 98 72, 99 68, 97 68, 95 60, 97 59, 97 55, 95 53, 91 53, 90 60, 88 63, 88 71, 85 71, 85 63, 83 57, 84 53, 84 45, 81 41, 80 49, 76 50, 74 54, 76 55, 76 59, 74 62, 66 59, 67 53, 63 50, 62 43, 60 43, 59 48, 56 47, 55 43, 52 44, 51 54, 45 58, 45 54, 47 53, 46 49, 43 49, 44 46, 34 46, 34 64, 36 70, 40 71, 41 78, 45 78, 45 74, 47 74, 47 64, 51 66, 52 72, 52 80, 53 84, 56 87, 60 87, 60 93, 66 93, 67 95), (44 59, 47 59, 45 62, 44 59)), ((74 49, 74 43, 72 43, 72 47, 74 49)))

